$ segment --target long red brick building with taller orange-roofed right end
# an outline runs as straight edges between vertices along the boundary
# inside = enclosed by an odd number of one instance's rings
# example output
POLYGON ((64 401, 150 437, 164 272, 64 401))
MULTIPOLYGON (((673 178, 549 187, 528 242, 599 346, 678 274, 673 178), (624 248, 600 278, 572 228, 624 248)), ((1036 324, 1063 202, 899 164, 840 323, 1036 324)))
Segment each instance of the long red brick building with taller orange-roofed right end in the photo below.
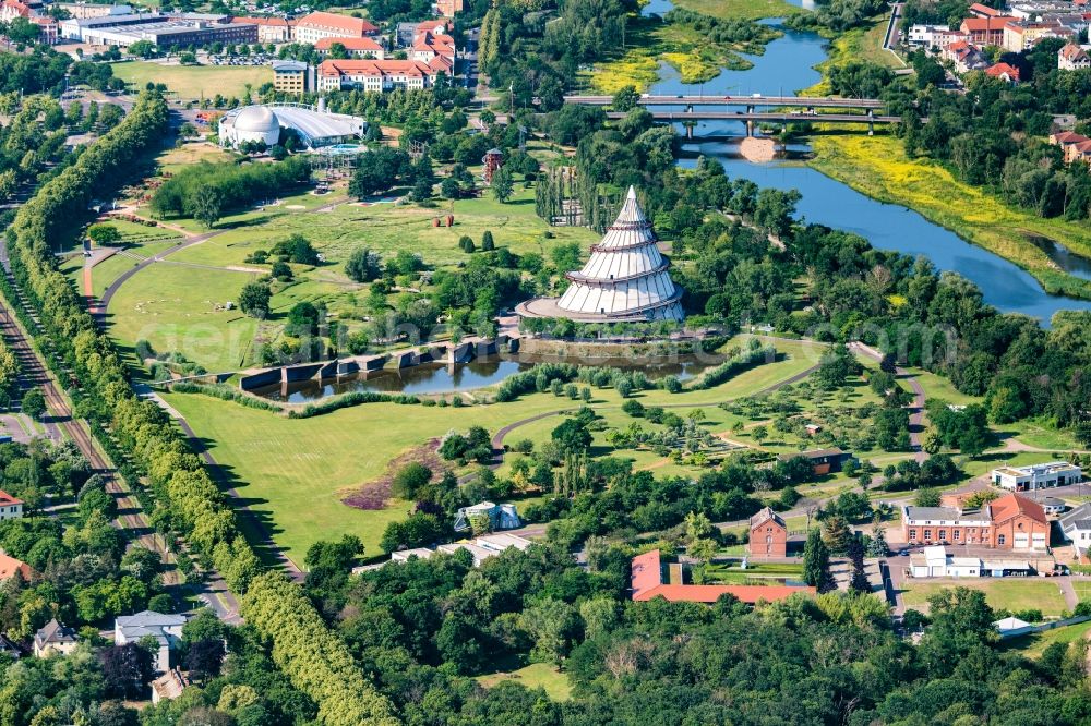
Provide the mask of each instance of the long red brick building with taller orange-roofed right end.
POLYGON ((1006 494, 980 509, 902 507, 901 528, 910 544, 962 544, 1015 550, 1045 550, 1050 545, 1045 510, 1018 494, 1006 494))

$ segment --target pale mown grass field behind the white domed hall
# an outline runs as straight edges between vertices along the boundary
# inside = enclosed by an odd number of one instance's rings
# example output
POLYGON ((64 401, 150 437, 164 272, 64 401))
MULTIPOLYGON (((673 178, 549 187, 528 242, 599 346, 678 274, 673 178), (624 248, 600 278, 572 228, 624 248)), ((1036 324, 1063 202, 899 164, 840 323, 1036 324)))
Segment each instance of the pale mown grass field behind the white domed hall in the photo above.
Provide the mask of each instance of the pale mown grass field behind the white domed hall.
POLYGON ((247 84, 254 92, 263 83, 273 82, 273 69, 267 65, 164 65, 146 61, 113 63, 113 75, 140 90, 151 83, 165 83, 179 98, 200 100, 241 98, 247 84))

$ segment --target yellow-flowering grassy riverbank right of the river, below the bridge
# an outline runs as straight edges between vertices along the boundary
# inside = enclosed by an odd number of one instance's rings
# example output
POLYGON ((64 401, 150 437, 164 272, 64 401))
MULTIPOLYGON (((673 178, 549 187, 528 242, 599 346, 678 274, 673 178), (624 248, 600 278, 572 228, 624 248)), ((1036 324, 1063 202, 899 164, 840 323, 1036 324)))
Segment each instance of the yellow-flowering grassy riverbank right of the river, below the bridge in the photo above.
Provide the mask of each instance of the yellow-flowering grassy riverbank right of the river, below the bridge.
POLYGON ((818 135, 810 165, 852 189, 882 202, 900 204, 963 239, 1009 259, 1033 275, 1052 294, 1091 299, 1091 280, 1060 270, 1031 241, 1054 240, 1091 256, 1091 228, 1058 219, 1042 219, 1004 204, 998 197, 957 180, 926 159, 910 159, 901 142, 880 134, 818 135))

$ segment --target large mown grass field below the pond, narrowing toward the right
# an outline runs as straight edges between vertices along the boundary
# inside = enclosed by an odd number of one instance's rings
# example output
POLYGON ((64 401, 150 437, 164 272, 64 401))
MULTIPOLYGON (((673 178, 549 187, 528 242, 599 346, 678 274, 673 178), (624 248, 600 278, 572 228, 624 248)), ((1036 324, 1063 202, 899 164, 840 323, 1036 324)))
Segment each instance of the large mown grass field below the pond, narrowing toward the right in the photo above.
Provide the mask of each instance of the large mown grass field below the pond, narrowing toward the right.
MULTIPOLYGON (((796 343, 798 344, 798 343, 796 343)), ((704 408, 714 414, 719 401, 754 394, 812 363, 790 358, 747 371, 728 383, 704 391, 668 394, 647 391, 645 404, 704 408)), ((592 407, 606 415, 624 416, 622 399, 613 389, 592 389, 592 407)), ((511 403, 466 408, 429 408, 369 403, 312 419, 287 419, 200 395, 167 394, 216 460, 237 482, 240 495, 252 501, 259 516, 272 525, 277 543, 300 562, 319 540, 356 534, 368 555, 379 554, 383 529, 407 513, 394 501, 380 511, 352 509, 341 496, 374 481, 392 459, 451 429, 481 425, 490 432, 539 413, 578 408, 582 403, 552 394, 525 396, 511 403)), ((627 416, 626 416, 627 418, 627 416)), ((549 436, 561 422, 551 416, 517 428, 511 440, 549 436), (540 425, 540 427, 539 427, 540 425)))

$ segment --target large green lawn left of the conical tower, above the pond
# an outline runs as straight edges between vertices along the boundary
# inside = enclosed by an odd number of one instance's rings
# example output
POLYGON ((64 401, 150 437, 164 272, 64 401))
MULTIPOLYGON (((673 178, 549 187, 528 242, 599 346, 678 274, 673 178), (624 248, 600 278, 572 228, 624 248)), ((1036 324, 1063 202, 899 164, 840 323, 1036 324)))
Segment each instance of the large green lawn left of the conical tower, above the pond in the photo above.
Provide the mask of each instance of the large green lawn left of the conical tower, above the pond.
MULTIPOLYGON (((235 301, 242 286, 253 277, 247 257, 255 250, 269 250, 276 242, 299 233, 309 239, 325 256, 316 268, 293 266, 297 282, 273 299, 274 315, 262 332, 275 338, 281 328, 281 313, 297 302, 325 302, 331 312, 355 308, 367 290, 344 274, 344 263, 358 246, 367 245, 384 257, 410 250, 419 252, 432 267, 454 267, 468 255, 458 249, 458 239, 470 235, 480 243, 490 230, 497 246, 518 254, 550 251, 567 242, 585 251, 598 235, 584 228, 550 228, 533 211, 533 191, 518 190, 508 204, 491 197, 459 201, 454 204, 455 225, 434 227, 433 220, 445 216, 445 208, 424 209, 412 205, 374 204, 361 206, 344 195, 316 196, 299 193, 284 197, 276 206, 250 208, 217 222, 221 230, 205 242, 179 251, 166 263, 156 263, 133 276, 118 291, 110 305, 111 332, 131 346, 140 338, 152 341, 157 350, 179 350, 189 360, 209 371, 231 371, 253 362, 251 342, 257 324, 238 311, 217 310, 235 301), (320 208, 334 205, 332 208, 320 208), (547 238, 547 231, 551 238, 547 238), (171 263, 207 265, 203 269, 171 263)), ((170 225, 193 232, 205 232, 192 219, 170 219, 170 225)), ((163 228, 148 229, 156 234, 177 234, 163 228)), ((173 238, 177 241, 178 238, 173 238)), ((172 243, 172 242, 170 242, 172 243)), ((152 250, 134 249, 148 256, 169 243, 152 250)), ((108 259, 96 268, 94 287, 99 293, 134 261, 108 259)), ((82 258, 71 263, 67 273, 82 287, 82 258)), ((268 269, 268 266, 259 266, 268 269)))

